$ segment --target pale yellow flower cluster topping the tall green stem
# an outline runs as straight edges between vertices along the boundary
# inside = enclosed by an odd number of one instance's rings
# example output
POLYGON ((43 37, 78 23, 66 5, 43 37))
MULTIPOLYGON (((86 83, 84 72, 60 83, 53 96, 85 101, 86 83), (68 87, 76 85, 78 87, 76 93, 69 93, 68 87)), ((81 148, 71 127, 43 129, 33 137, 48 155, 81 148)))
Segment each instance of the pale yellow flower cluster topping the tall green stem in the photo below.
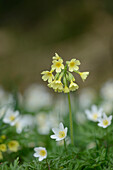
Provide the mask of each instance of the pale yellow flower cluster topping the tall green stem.
POLYGON ((76 72, 80 75, 84 81, 89 72, 79 71, 80 61, 72 59, 71 61, 66 61, 64 66, 63 59, 55 53, 53 57, 51 70, 43 71, 42 79, 48 81, 48 87, 53 88, 55 92, 69 93, 70 91, 75 91, 79 86, 75 83, 75 78, 71 72, 76 72), (53 75, 55 72, 55 75, 53 75))

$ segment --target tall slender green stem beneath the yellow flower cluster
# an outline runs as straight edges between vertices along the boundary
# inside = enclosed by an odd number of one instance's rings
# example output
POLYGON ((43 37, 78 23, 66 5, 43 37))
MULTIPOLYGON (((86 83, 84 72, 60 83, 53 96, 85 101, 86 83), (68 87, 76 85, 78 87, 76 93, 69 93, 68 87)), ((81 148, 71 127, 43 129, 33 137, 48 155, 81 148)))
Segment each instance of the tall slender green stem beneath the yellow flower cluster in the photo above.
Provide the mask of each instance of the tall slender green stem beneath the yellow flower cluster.
POLYGON ((69 120, 70 120, 70 136, 71 136, 71 144, 74 145, 74 139, 73 139, 73 120, 72 120, 72 112, 71 112, 70 93, 68 93, 68 103, 69 103, 69 120))

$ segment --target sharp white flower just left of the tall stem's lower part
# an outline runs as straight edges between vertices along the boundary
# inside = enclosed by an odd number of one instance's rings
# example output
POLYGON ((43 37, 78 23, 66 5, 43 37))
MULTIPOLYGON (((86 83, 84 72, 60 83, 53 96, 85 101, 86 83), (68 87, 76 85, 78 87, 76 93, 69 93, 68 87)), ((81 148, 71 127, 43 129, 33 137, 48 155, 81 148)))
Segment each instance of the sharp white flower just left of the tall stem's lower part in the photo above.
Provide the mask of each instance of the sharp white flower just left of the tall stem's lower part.
POLYGON ((66 138, 67 136, 67 130, 68 128, 66 127, 64 129, 63 123, 59 124, 59 128, 53 128, 52 131, 54 135, 51 135, 50 137, 52 139, 56 139, 56 141, 60 141, 66 138))

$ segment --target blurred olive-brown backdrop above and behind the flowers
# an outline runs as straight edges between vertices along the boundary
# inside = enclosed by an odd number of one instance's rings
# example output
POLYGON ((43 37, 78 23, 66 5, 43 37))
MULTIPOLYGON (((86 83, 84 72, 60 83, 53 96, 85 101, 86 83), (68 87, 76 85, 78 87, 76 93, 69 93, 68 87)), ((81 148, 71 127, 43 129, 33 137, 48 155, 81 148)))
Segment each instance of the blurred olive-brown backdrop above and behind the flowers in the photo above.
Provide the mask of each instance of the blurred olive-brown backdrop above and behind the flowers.
MULTIPOLYGON (((43 83, 57 52, 77 58, 99 88, 113 77, 113 0, 0 0, 0 84, 23 91, 43 83)), ((78 80, 79 81, 79 80, 78 80)))

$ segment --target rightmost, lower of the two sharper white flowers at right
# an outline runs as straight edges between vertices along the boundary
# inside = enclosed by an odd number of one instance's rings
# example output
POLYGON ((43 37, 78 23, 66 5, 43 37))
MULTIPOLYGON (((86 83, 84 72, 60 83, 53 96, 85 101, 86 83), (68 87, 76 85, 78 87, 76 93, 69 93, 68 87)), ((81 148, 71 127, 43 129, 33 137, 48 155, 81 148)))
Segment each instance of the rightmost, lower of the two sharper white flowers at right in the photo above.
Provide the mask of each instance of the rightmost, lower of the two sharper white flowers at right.
POLYGON ((112 120, 112 115, 110 115, 109 117, 106 116, 105 113, 103 113, 102 118, 98 119, 98 126, 106 128, 111 124, 111 120, 112 120))

